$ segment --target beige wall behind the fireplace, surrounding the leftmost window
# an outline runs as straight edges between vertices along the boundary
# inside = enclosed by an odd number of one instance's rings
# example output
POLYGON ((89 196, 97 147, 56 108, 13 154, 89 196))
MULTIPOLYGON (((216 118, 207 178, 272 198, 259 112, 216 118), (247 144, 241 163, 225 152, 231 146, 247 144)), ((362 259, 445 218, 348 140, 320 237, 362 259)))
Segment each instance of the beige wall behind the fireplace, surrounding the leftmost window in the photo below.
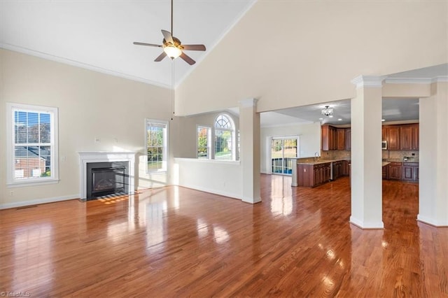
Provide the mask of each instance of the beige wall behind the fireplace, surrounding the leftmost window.
MULTIPOLYGON (((167 175, 148 176, 142 157, 144 120, 169 120, 169 90, 8 50, 0 50, 0 71, 0 206, 77 198, 79 151, 138 152, 136 159, 142 162, 136 164, 136 187, 155 187, 169 180, 167 175), (59 183, 6 186, 6 102, 59 108, 59 183), (95 138, 101 141, 96 143, 95 138)), ((176 120, 169 125, 176 130, 176 120)))

